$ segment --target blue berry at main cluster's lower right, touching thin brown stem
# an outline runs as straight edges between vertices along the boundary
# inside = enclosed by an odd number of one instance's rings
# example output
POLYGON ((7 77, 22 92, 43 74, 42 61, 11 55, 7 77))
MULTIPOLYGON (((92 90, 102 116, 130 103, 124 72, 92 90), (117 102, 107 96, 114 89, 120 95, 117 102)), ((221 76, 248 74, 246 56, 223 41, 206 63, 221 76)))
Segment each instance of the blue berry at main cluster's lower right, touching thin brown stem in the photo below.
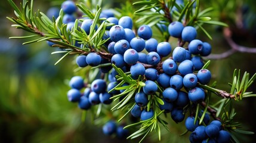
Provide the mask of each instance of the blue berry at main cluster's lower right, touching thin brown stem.
POLYGON ((189 100, 192 102, 199 102, 205 99, 205 92, 202 88, 192 88, 189 91, 189 100))

